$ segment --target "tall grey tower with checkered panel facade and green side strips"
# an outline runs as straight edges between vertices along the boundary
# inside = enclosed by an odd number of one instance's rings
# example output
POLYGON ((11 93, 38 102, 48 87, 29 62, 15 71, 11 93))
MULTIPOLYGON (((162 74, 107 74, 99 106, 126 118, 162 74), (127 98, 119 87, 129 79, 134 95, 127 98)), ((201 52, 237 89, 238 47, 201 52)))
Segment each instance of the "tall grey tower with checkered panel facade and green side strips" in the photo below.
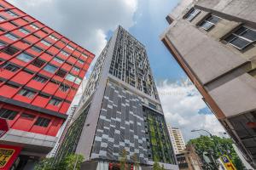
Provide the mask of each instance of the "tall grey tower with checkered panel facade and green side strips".
POLYGON ((141 166, 178 168, 146 49, 121 26, 97 59, 73 120, 56 159, 78 153, 86 169, 108 169, 125 150, 141 166))

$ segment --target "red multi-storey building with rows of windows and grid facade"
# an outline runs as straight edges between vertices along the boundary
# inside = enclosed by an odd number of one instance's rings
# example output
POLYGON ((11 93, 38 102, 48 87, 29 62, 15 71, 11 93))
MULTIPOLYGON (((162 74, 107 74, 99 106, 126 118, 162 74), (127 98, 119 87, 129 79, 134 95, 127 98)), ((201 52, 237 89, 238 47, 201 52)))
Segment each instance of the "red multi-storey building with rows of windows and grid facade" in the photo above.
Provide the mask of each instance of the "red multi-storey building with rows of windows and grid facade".
POLYGON ((0 48, 0 169, 30 169, 54 147, 94 54, 3 0, 0 48))

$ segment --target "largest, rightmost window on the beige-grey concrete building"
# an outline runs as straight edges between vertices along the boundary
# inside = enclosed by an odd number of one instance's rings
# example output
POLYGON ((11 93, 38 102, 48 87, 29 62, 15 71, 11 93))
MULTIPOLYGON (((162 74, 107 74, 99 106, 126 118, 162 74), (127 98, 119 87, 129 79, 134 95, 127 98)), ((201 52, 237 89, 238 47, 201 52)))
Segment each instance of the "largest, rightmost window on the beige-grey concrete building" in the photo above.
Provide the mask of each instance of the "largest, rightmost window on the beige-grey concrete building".
POLYGON ((243 49, 256 41, 256 31, 245 26, 241 26, 229 37, 226 37, 224 41, 238 49, 243 49))

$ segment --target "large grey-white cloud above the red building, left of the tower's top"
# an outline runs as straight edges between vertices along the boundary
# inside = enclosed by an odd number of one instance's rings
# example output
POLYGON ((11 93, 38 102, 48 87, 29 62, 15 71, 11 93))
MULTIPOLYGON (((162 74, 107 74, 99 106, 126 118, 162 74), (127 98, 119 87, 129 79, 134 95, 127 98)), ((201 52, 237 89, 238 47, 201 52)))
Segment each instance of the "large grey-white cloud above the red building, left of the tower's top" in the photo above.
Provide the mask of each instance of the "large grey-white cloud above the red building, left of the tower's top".
POLYGON ((9 0, 44 24, 78 42, 96 55, 106 44, 108 31, 135 24, 138 0, 9 0))

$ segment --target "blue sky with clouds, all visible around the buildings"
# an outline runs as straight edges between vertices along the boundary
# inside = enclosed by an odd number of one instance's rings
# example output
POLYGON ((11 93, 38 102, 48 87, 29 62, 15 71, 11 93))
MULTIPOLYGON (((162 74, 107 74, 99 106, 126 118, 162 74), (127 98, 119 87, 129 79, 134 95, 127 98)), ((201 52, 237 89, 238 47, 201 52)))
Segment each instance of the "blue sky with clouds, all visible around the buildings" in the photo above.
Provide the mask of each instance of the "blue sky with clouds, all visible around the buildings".
MULTIPOLYGON (((157 82, 166 122, 180 127, 188 141, 204 128, 219 134, 224 129, 209 111, 195 86, 177 65, 162 42, 160 34, 169 14, 179 0, 9 0, 55 31, 96 54, 101 53, 117 26, 123 26, 147 48, 157 82)), ((90 69, 91 71, 91 69, 90 69)), ((86 82, 86 80, 84 80, 86 82)), ((84 87, 84 84, 82 85, 84 87)), ((83 93, 80 88, 76 99, 83 93)))

